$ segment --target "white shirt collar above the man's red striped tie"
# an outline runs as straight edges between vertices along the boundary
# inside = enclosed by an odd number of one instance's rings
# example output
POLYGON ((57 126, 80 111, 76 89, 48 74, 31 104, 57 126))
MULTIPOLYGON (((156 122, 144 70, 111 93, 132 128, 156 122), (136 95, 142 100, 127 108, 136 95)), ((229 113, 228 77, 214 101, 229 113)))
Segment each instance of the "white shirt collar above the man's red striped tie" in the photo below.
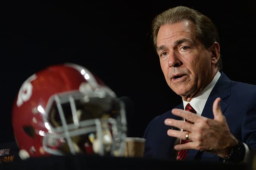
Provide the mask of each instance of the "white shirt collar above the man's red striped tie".
MULTIPOLYGON (((215 86, 215 84, 219 80, 220 75, 221 75, 221 73, 218 71, 215 74, 211 83, 209 83, 208 86, 206 86, 206 88, 197 97, 193 98, 189 102, 190 105, 195 109, 195 111, 197 111, 197 115, 202 114, 204 105, 206 104, 206 101, 207 101, 213 87, 215 86)), ((186 107, 187 103, 188 103, 187 101, 183 101, 184 108, 186 107)))

